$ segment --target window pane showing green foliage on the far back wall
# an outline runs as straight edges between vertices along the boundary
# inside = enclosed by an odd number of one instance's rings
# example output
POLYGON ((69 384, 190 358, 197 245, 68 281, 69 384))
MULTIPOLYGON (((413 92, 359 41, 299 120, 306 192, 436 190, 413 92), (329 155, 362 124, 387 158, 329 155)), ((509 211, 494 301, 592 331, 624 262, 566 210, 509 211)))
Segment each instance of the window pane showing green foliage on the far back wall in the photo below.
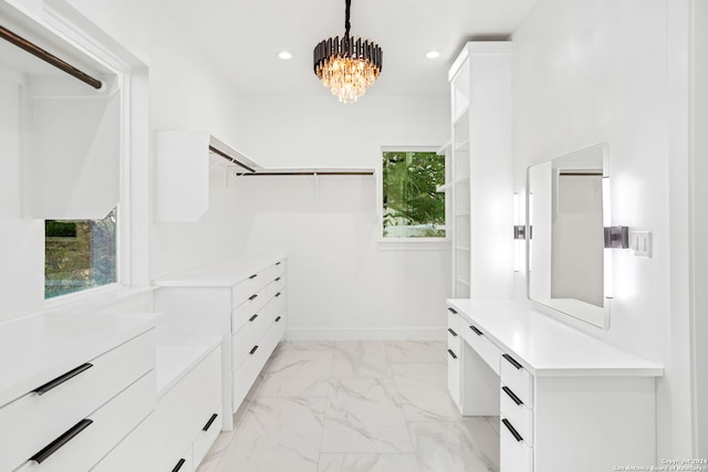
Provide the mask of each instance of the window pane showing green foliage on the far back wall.
POLYGON ((445 238, 445 156, 383 153, 384 238, 445 238))

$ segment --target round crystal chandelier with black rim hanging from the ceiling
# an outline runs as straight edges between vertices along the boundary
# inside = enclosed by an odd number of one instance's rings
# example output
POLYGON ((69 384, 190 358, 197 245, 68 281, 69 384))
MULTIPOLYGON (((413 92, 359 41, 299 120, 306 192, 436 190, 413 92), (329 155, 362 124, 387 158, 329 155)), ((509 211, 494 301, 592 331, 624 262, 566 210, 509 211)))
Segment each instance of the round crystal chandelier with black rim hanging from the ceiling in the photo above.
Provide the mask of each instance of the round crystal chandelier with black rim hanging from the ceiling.
POLYGON ((373 41, 350 36, 352 1, 345 2, 344 36, 330 38, 314 48, 314 73, 340 102, 354 103, 378 78, 384 53, 373 41))

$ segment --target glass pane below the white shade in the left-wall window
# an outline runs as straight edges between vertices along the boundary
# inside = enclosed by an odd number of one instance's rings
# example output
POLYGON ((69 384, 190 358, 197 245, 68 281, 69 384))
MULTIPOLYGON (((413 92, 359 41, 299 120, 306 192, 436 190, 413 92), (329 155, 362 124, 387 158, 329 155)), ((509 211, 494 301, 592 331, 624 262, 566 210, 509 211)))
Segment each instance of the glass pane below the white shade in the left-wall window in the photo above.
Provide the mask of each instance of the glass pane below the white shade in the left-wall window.
POLYGON ((44 298, 117 281, 116 217, 44 221, 44 298))

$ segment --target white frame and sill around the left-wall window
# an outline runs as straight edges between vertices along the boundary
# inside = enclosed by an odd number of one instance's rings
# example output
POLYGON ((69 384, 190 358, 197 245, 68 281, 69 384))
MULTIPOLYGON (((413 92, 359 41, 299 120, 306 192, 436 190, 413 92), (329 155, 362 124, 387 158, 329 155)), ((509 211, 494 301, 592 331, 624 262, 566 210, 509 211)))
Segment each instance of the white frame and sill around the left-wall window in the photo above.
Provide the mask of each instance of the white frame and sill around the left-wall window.
MULTIPOLYGON (((67 40, 113 71, 121 88, 118 201, 116 202, 116 282, 44 298, 44 310, 112 297, 150 287, 149 279, 149 78, 147 64, 69 4, 41 17, 52 33, 67 40)), ((42 245, 44 251, 44 245, 42 245)))

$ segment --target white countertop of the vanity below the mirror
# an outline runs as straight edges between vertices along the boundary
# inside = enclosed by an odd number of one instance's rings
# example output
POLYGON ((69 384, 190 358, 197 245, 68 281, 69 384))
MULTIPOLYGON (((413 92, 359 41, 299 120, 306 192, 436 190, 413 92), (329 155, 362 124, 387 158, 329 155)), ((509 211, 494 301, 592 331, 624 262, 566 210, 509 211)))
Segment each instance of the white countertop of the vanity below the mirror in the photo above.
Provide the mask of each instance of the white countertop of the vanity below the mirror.
POLYGON ((537 377, 659 377, 664 369, 639 356, 511 300, 448 300, 504 353, 537 377))

